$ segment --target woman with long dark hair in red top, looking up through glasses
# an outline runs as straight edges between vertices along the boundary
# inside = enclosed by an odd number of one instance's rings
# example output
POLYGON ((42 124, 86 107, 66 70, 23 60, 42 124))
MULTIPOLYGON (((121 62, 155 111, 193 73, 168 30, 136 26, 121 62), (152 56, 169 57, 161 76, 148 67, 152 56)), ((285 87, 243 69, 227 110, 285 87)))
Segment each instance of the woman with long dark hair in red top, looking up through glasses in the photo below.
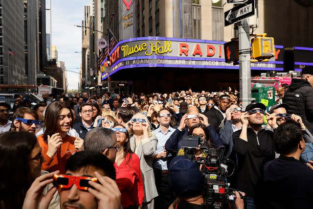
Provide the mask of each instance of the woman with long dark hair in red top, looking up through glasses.
POLYGON ((122 194, 122 207, 137 209, 144 198, 139 157, 131 149, 126 127, 116 125, 112 130, 116 132, 117 144, 121 147, 116 153, 114 167, 116 184, 122 194))

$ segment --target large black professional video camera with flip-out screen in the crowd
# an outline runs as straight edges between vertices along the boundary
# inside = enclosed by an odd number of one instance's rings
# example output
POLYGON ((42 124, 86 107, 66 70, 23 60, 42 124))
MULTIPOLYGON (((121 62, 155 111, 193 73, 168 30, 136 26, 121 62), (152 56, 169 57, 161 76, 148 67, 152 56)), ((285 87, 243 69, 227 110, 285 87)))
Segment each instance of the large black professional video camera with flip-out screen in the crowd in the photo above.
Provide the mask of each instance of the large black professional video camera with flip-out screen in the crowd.
POLYGON ((204 208, 233 209, 232 191, 227 183, 227 166, 223 164, 224 146, 216 145, 201 139, 199 136, 184 136, 182 138, 184 155, 200 165, 205 178, 204 208), (201 156, 196 157, 197 149, 201 156))

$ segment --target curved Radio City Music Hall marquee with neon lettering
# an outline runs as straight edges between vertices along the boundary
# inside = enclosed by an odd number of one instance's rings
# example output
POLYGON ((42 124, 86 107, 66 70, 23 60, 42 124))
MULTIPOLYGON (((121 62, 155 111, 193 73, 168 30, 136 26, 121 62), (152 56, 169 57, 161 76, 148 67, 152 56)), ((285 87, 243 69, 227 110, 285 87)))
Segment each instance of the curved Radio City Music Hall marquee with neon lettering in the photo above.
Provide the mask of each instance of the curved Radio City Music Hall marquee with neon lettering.
MULTIPOLYGON (((118 70, 140 67, 239 69, 225 63, 222 41, 163 37, 131 38, 119 42, 101 64, 102 80, 118 70)), ((251 70, 284 70, 284 47, 275 46, 275 57, 266 63, 251 63, 251 70)))

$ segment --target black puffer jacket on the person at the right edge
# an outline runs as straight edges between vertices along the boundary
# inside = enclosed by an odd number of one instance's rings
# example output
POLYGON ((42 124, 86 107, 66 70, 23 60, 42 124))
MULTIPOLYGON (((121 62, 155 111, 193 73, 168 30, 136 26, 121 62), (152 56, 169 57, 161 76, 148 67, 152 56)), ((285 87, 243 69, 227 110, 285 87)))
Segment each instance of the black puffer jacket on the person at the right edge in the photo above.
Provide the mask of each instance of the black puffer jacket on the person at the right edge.
POLYGON ((290 114, 301 116, 304 125, 313 133, 313 87, 304 79, 292 79, 283 102, 289 105, 290 114))

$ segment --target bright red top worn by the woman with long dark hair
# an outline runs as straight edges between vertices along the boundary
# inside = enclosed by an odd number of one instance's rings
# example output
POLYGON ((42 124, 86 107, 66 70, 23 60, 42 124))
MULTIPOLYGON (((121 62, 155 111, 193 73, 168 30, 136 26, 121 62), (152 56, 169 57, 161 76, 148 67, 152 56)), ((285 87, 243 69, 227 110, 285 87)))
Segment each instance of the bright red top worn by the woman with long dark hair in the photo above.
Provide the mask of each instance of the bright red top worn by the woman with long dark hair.
POLYGON ((132 159, 128 162, 130 156, 128 154, 120 165, 114 163, 116 184, 122 194, 123 208, 141 206, 144 199, 139 157, 132 154, 132 159))

